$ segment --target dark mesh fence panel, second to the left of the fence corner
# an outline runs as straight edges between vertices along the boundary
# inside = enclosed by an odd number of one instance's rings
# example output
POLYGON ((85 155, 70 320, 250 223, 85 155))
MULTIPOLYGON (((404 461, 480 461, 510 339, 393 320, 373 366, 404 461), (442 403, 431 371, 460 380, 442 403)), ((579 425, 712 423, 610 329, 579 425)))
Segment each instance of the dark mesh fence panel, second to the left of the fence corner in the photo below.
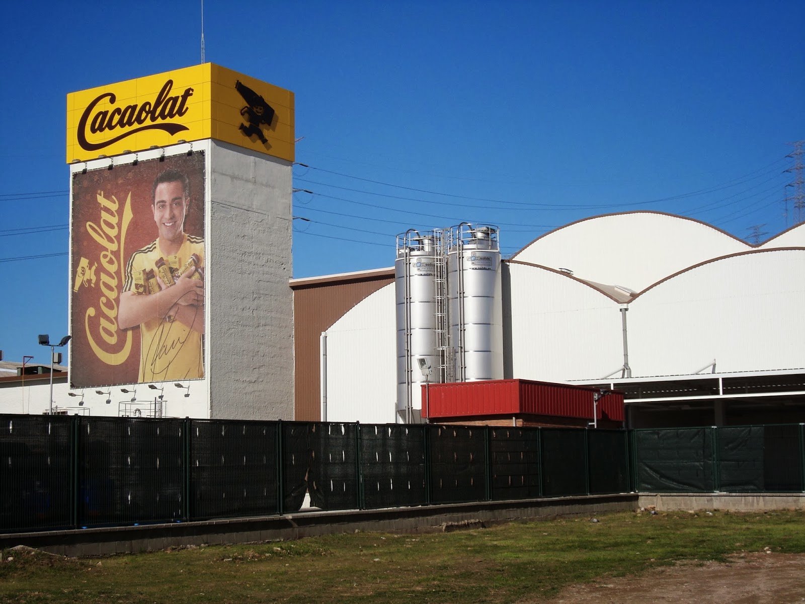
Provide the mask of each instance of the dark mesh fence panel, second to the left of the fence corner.
POLYGON ((587 494, 586 430, 541 428, 543 495, 587 494))

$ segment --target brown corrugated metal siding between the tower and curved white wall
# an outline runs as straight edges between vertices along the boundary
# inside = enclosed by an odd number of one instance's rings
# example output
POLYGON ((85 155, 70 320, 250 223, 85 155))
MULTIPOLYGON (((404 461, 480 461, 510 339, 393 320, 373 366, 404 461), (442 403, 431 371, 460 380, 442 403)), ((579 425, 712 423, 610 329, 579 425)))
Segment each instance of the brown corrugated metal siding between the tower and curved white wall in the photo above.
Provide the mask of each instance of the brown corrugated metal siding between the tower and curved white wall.
POLYGON ((323 331, 350 308, 378 289, 394 283, 394 270, 348 281, 293 286, 294 290, 294 419, 320 419, 320 351, 323 331))

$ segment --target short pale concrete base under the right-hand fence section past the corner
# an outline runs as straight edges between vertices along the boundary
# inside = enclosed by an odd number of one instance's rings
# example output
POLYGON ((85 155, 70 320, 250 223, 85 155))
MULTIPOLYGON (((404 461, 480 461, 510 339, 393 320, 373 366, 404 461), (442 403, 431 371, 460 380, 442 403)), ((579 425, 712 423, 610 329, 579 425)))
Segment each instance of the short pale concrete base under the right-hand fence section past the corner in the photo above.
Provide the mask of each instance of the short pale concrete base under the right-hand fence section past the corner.
POLYGON ((642 493, 639 507, 654 506, 658 511, 725 510, 767 511, 805 510, 805 494, 796 493, 642 493))

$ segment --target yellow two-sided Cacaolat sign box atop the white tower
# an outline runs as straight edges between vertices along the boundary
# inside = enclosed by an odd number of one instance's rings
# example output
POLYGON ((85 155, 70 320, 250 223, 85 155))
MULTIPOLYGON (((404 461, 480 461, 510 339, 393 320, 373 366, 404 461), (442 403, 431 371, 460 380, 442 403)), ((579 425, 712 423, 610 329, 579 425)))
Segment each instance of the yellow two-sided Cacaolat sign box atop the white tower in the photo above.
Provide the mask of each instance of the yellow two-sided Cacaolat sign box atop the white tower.
POLYGON ((67 162, 217 139, 294 161, 294 93, 212 63, 67 95, 67 162))

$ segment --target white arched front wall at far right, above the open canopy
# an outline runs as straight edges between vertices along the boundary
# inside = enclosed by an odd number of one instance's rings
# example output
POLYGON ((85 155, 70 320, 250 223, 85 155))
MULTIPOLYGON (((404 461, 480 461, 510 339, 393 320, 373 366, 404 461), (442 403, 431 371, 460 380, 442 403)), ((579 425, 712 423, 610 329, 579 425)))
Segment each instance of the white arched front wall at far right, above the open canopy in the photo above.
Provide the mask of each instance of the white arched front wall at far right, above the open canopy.
POLYGON ((740 254, 676 275, 630 304, 634 377, 805 366, 805 250, 740 254))

